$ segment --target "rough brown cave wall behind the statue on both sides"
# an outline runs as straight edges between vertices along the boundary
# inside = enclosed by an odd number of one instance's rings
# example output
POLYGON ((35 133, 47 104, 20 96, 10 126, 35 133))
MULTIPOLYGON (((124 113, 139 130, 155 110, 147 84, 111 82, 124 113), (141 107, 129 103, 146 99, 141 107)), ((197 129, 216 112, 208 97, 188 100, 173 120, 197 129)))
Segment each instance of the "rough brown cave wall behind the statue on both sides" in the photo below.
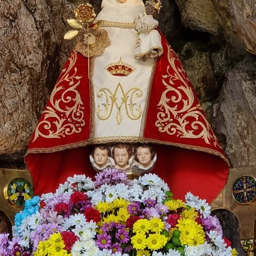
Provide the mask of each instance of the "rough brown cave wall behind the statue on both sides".
MULTIPOLYGON (((91 0, 96 12, 100 2, 91 0)), ((73 47, 63 35, 78 3, 0 0, 0 167, 25 168, 33 128, 73 47)), ((179 54, 231 167, 256 166, 255 1, 162 4, 159 27, 179 54)))

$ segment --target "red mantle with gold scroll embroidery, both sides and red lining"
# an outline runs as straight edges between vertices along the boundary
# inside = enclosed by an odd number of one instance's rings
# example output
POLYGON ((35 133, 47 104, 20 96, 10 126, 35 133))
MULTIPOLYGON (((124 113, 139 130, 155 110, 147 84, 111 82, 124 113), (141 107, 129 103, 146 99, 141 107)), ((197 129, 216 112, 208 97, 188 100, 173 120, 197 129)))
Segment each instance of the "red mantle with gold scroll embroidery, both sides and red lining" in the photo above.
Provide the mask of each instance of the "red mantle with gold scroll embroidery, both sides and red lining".
MULTIPOLYGON (((154 173, 175 198, 191 191, 211 202, 228 177, 228 161, 180 60, 162 36, 150 100, 138 142, 155 143, 154 173)), ((89 162, 94 106, 87 58, 72 52, 32 135, 26 164, 35 195, 54 191, 74 174, 93 177, 89 162)), ((118 135, 117 135, 118 136, 118 135)), ((120 136, 120 135, 119 135, 120 136)))

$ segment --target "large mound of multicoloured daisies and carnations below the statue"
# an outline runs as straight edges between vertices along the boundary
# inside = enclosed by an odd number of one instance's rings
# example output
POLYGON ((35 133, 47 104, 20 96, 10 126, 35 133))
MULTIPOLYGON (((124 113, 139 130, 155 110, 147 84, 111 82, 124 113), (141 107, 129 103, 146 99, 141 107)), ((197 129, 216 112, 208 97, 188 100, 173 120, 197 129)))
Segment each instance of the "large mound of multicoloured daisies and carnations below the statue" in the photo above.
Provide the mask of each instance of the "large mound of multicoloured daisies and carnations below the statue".
POLYGON ((0 255, 238 255, 206 200, 174 200, 155 174, 127 181, 105 169, 96 181, 69 177, 56 193, 26 201, 0 255))

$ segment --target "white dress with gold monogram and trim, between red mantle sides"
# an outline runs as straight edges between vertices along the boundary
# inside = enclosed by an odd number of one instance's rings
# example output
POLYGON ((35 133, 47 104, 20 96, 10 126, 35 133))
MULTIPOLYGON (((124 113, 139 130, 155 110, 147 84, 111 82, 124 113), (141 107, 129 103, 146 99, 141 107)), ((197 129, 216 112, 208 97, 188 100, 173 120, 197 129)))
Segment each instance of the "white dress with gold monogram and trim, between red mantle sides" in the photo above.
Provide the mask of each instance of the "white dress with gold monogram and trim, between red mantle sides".
MULTIPOLYGON (((124 4, 116 0, 103 0, 102 11, 96 20, 110 22, 104 26, 111 40, 111 46, 100 56, 94 57, 91 83, 94 94, 94 136, 93 143, 136 142, 143 129, 143 117, 154 73, 155 59, 135 59, 154 47, 161 48, 159 33, 147 36, 150 41, 143 49, 138 49, 137 30, 131 28, 136 17, 144 14, 144 4, 140 0, 128 0, 124 4), (121 25, 117 25, 121 23, 121 25), (115 27, 112 27, 115 26, 115 27), (122 65, 130 70, 124 76, 108 72, 108 67, 122 65)), ((149 35, 147 33, 146 35, 149 35)))

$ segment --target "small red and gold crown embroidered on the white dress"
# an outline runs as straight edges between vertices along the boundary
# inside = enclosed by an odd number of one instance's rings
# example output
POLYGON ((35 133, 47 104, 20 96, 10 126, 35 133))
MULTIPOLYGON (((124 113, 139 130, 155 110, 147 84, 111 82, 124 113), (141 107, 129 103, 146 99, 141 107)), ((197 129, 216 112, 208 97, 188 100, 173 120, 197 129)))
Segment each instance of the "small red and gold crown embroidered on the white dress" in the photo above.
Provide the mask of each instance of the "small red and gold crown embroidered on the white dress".
POLYGON ((121 57, 119 61, 110 63, 105 69, 113 76, 129 76, 135 70, 130 64, 122 62, 121 57))

